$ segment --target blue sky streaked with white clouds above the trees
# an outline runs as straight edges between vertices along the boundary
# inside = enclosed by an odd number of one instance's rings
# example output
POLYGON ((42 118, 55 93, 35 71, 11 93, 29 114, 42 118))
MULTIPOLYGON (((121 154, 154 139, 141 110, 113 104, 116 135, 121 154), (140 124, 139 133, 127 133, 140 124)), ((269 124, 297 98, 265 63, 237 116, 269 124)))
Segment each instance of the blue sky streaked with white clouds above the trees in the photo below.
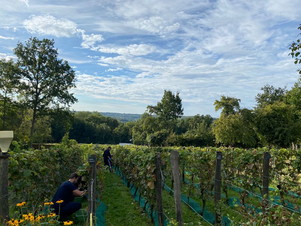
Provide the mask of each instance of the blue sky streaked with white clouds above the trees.
POLYGON ((265 84, 290 88, 296 1, 2 0, 0 57, 31 36, 54 39, 76 71, 76 111, 138 113, 179 91, 184 115, 221 95, 253 108, 265 84))

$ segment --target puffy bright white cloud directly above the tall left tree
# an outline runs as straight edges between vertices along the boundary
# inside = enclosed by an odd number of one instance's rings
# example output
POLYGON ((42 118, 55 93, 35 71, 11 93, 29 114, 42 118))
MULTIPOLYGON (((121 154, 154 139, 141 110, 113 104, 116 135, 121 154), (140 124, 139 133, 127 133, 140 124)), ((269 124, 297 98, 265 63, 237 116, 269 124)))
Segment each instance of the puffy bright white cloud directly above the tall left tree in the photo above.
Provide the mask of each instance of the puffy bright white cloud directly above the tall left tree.
POLYGON ((64 18, 57 19, 48 14, 42 16, 31 15, 22 24, 32 34, 73 37, 78 33, 77 25, 73 21, 64 18))

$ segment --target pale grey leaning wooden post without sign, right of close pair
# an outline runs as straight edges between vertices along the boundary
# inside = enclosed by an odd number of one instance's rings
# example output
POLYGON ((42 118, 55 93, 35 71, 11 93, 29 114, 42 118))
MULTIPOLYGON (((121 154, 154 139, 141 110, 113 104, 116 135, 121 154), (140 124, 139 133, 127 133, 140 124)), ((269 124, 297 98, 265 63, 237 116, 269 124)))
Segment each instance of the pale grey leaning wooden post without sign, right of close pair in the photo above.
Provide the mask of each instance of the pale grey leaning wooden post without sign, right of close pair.
POLYGON ((181 200, 181 185, 180 185, 180 170, 179 170, 179 156, 177 151, 170 152, 172 175, 174 179, 174 198, 175 198, 175 212, 178 226, 183 226, 182 220, 182 200, 181 200))

